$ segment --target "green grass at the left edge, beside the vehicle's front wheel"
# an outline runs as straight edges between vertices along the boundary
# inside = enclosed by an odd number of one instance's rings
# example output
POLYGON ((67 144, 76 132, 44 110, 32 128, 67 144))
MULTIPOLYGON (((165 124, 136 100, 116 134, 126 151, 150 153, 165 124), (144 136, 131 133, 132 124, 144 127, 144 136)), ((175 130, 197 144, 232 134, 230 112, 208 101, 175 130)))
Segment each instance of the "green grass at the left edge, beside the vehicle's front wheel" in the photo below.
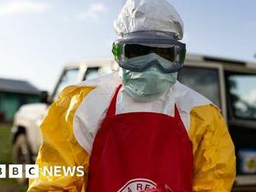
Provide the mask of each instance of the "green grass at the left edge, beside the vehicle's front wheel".
MULTIPOLYGON (((0 164, 12 163, 11 126, 0 125, 0 164)), ((3 192, 24 192, 26 188, 15 179, 0 179, 0 190, 3 192)))

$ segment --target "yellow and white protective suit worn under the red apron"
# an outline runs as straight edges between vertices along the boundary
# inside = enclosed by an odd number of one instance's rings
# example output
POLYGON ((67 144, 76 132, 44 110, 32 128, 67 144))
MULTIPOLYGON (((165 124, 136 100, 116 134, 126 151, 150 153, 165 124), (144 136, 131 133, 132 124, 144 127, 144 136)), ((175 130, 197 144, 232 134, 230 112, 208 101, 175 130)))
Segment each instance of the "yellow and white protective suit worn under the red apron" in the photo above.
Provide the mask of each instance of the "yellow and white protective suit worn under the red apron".
MULTIPOLYGON (((88 173, 93 139, 106 115, 112 94, 120 83, 112 74, 104 78, 67 87, 50 106, 41 125, 43 145, 36 160, 40 169, 43 166, 85 166, 88 173)), ((192 141, 193 191, 230 191, 235 179, 234 144, 219 109, 179 82, 162 96, 165 104, 170 94, 175 98, 168 101, 168 106, 173 108, 174 103, 177 105, 192 141)), ((125 97, 129 96, 121 91, 117 113, 140 111, 136 101, 127 98, 125 103, 125 97), (123 108, 129 109, 122 111, 123 108)), ((143 108, 173 114, 172 110, 161 110, 161 105, 156 105, 161 101, 143 108)), ((85 191, 86 183, 86 174, 85 177, 40 175, 38 179, 29 180, 28 191, 85 191)))

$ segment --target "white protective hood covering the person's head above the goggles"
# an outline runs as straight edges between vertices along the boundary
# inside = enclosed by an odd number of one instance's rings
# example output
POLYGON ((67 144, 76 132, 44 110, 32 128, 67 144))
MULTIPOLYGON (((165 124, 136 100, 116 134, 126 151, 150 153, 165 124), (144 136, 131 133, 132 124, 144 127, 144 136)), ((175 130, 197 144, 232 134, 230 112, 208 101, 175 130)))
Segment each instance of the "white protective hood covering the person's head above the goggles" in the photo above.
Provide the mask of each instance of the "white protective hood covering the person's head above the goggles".
POLYGON ((183 38, 183 22, 175 8, 166 0, 127 0, 114 22, 118 36, 138 31, 174 33, 183 38))

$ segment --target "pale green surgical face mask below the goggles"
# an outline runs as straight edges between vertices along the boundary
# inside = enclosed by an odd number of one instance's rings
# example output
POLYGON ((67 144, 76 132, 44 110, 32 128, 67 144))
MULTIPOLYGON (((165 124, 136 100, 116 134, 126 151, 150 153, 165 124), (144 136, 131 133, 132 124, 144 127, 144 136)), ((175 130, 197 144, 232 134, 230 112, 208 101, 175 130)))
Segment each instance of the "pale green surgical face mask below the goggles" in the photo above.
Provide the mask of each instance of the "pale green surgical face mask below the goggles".
POLYGON ((124 90, 138 101, 154 101, 175 84, 177 74, 164 74, 154 66, 142 73, 123 69, 124 90))

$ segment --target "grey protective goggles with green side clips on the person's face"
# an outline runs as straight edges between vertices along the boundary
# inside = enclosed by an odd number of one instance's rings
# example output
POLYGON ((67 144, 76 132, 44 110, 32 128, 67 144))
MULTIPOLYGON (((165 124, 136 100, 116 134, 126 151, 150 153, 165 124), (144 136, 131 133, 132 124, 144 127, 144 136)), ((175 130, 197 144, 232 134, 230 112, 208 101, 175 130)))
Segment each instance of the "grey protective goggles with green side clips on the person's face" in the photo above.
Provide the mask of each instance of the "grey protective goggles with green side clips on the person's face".
POLYGON ((137 72, 142 72, 157 63, 164 73, 173 73, 182 69, 185 61, 185 43, 175 39, 119 39, 113 43, 112 53, 119 66, 137 72), (136 65, 130 62, 134 57, 142 57, 156 53, 168 62, 145 62, 136 65))

